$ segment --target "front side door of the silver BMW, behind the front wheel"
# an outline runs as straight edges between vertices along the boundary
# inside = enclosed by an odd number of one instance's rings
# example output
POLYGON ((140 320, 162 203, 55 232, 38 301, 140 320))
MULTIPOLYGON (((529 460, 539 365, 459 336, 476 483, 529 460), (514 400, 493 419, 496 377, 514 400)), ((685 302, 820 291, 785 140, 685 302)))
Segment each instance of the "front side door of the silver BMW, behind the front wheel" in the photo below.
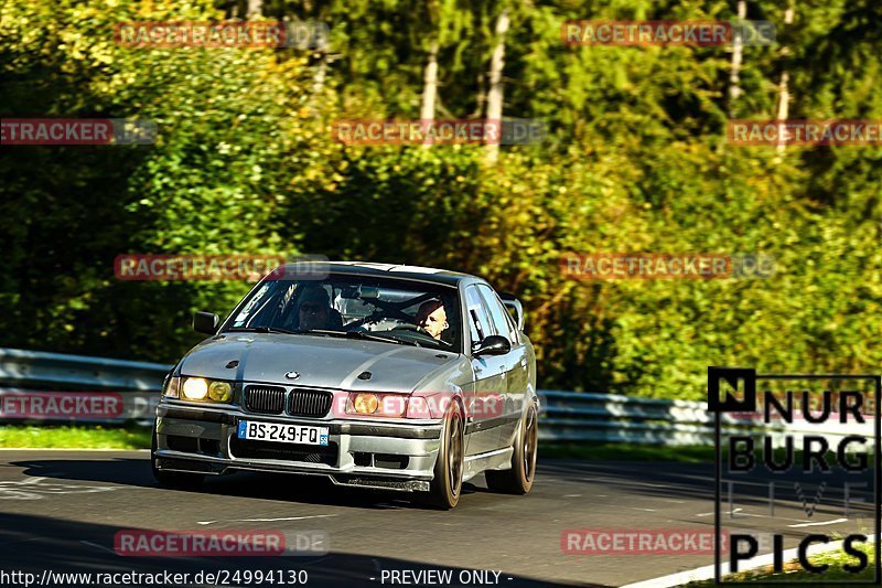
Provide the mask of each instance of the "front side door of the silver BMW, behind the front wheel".
POLYGON ((466 353, 471 356, 474 373, 474 394, 467 399, 465 430, 470 432, 466 455, 486 453, 504 447, 498 421, 493 410, 487 410, 487 398, 504 397, 506 361, 502 355, 475 357, 472 350, 484 338, 495 334, 493 321, 484 307, 484 301, 472 285, 465 288, 465 321, 469 325, 466 353))

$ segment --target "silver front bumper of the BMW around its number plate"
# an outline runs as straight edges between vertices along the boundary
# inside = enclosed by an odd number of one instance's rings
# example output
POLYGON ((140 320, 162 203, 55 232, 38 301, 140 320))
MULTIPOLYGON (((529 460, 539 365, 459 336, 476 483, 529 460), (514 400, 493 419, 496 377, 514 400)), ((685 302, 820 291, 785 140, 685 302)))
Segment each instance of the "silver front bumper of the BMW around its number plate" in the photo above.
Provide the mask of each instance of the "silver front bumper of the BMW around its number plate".
POLYGON ((236 407, 163 403, 157 407, 155 463, 168 471, 291 472, 325 475, 341 485, 426 491, 433 477, 441 429, 440 420, 297 418, 236 407), (244 419, 327 427, 329 446, 243 442, 236 432, 244 419))

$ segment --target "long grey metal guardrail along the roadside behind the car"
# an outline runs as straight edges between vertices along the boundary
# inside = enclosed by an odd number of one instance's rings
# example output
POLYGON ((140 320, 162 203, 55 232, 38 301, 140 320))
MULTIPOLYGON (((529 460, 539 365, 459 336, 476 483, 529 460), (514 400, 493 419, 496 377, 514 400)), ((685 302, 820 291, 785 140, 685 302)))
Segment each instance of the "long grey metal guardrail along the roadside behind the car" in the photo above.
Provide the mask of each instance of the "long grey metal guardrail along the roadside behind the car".
MULTIPOLYGON (((77 421, 152 421, 162 379, 171 370, 159 363, 128 362, 84 355, 66 355, 0 349, 0 421, 34 420, 15 414, 15 399, 51 392, 107 392, 121 409, 110 417, 77 416, 77 421)), ((47 402, 49 402, 49 396, 47 402)), ((712 445, 713 415, 704 403, 641 398, 615 394, 539 391, 541 419, 539 436, 555 441, 605 441, 639 445, 712 445)), ((119 407, 118 407, 119 408, 119 407)), ((40 420, 72 420, 64 414, 40 420)), ((724 415, 723 431, 736 435, 755 430, 750 418, 724 415)), ((806 424, 776 424, 772 431, 776 445, 785 435, 799 441, 804 434, 817 435, 818 427, 806 424)), ((872 423, 865 430, 854 424, 825 424, 822 435, 836 441, 846 435, 872 438, 872 423)))

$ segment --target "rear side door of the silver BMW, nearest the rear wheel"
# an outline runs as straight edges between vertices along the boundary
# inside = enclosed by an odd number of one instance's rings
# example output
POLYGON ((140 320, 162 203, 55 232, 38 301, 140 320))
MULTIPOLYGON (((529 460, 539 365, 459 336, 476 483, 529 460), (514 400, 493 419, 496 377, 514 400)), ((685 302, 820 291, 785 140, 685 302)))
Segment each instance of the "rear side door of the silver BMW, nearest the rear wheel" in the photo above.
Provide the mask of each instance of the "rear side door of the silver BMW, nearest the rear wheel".
POLYGON ((505 355, 497 355, 503 372, 504 385, 501 389, 503 403, 497 418, 502 447, 508 447, 514 440, 517 424, 520 419, 520 409, 524 406, 527 389, 527 350, 520 341, 520 334, 505 310, 496 292, 487 285, 477 286, 481 298, 490 314, 496 334, 505 336, 512 344, 512 351, 505 355))

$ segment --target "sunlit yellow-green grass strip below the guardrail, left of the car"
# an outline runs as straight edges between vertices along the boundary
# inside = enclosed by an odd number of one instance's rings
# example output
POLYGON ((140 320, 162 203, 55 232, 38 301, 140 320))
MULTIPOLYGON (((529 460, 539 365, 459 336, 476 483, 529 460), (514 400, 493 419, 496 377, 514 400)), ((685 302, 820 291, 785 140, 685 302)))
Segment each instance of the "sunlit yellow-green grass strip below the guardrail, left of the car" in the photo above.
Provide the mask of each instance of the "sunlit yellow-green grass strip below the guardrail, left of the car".
POLYGON ((0 448, 149 449, 147 427, 0 426, 0 448))

